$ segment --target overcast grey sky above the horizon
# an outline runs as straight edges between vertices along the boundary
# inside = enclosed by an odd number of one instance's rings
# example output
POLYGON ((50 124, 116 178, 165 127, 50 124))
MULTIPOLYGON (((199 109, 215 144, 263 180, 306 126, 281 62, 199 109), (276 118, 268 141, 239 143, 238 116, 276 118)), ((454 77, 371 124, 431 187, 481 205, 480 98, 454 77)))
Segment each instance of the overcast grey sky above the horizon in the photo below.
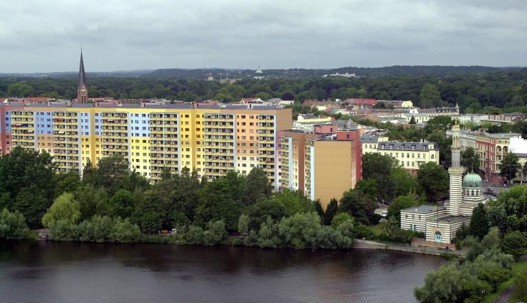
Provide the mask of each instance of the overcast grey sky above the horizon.
POLYGON ((525 0, 0 0, 0 73, 527 66, 525 0))

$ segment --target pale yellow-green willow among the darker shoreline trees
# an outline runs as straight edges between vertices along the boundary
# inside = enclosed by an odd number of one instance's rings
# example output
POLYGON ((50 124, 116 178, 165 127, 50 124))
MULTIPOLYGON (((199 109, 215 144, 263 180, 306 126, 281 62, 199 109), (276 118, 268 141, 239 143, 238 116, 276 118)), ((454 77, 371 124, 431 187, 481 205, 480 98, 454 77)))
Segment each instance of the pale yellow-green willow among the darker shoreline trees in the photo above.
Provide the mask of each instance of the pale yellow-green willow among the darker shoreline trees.
POLYGON ((53 202, 53 205, 42 217, 43 226, 51 227, 56 221, 66 221, 75 224, 80 219, 80 204, 73 198, 72 193, 63 193, 53 202))

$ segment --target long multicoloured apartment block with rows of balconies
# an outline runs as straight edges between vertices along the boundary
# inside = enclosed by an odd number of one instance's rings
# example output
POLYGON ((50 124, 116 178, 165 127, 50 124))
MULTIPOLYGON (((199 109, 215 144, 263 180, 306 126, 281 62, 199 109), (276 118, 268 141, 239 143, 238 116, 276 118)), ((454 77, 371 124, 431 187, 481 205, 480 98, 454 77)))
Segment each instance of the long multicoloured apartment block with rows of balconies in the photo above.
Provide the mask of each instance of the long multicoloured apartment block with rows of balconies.
POLYGON ((292 112, 274 106, 0 104, 0 148, 46 151, 59 171, 120 154, 153 181, 184 167, 218 178, 261 167, 278 188, 277 133, 292 112))

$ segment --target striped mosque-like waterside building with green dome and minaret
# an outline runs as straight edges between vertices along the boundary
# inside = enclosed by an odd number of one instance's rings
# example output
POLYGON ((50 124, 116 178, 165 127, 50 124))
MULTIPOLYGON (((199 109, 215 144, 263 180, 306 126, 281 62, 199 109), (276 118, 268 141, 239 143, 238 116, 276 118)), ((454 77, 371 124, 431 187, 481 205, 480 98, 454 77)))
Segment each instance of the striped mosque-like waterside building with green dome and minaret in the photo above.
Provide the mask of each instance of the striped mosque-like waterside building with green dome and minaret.
MULTIPOLYGON (((401 228, 425 234, 425 242, 454 248, 450 241, 463 225, 469 226, 474 208, 484 202, 482 180, 477 173, 463 175, 459 144, 460 126, 452 125, 452 167, 448 169, 449 201, 445 206, 421 205, 401 210, 401 228)), ((469 169, 467 167, 467 169, 469 169)))

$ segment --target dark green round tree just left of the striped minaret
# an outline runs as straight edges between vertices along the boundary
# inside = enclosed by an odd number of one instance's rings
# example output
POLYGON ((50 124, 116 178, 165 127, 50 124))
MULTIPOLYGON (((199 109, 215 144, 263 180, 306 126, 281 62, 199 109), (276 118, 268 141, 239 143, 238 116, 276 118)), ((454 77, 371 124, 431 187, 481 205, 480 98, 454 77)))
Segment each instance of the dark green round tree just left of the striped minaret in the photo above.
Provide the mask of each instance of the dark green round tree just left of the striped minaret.
POLYGON ((421 165, 417 171, 417 180, 430 202, 447 197, 449 176, 441 165, 434 162, 421 165))

